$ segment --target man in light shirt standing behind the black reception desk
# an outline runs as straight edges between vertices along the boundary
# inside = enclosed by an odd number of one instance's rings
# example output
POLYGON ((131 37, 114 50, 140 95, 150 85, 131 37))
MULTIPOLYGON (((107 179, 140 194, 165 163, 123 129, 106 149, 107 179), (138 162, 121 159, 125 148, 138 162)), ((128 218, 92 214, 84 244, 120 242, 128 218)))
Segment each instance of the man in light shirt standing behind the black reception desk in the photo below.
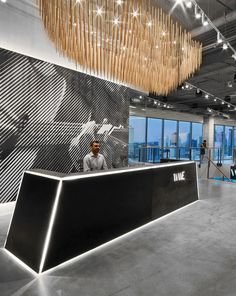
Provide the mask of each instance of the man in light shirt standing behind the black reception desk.
POLYGON ((107 164, 105 158, 100 151, 99 141, 92 141, 90 143, 91 152, 87 154, 83 159, 83 170, 84 172, 107 170, 107 164))

